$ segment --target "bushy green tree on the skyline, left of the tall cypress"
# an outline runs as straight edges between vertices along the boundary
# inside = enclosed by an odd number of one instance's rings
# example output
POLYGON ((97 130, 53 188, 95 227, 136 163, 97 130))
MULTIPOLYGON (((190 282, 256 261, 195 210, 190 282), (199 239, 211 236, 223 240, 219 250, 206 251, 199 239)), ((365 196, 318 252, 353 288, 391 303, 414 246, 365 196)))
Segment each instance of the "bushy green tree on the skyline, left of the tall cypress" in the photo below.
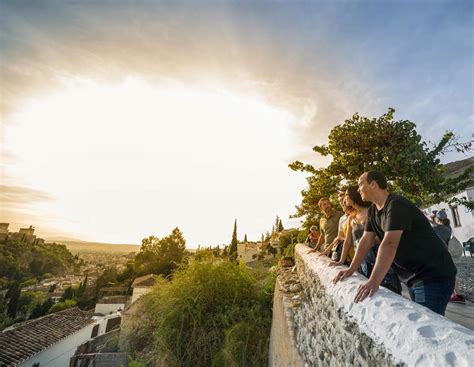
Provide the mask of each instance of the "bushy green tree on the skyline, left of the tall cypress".
POLYGON ((170 275, 183 261, 185 248, 186 241, 178 228, 162 239, 155 236, 144 238, 135 257, 135 275, 170 275))

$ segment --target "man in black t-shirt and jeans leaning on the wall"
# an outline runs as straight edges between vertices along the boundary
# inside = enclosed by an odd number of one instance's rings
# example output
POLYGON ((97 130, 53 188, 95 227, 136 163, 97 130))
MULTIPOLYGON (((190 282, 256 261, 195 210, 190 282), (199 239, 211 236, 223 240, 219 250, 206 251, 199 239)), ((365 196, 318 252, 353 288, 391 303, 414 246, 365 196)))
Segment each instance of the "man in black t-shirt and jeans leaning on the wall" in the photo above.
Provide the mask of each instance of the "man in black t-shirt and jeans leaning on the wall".
POLYGON ((352 275, 367 256, 377 236, 381 239, 377 261, 369 280, 361 285, 355 302, 372 296, 393 263, 411 299, 444 315, 454 288, 456 267, 446 245, 428 219, 408 199, 389 194, 385 177, 376 171, 359 178, 362 199, 371 201, 364 235, 348 270, 340 271, 335 282, 352 275))

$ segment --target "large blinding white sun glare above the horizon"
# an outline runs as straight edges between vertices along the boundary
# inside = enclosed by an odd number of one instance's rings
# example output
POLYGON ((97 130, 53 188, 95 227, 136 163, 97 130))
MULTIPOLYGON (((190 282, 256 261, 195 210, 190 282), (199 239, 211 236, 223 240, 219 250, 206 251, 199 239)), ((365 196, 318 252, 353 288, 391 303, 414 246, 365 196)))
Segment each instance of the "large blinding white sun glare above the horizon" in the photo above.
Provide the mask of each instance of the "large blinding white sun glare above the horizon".
POLYGON ((212 243, 250 208, 262 219, 247 232, 259 237, 269 208, 284 214, 275 197, 298 201, 281 189, 301 180, 286 166, 296 120, 219 86, 70 79, 9 117, 7 176, 53 197, 27 208, 41 213, 38 228, 86 240, 136 243, 179 226, 191 246, 212 243))

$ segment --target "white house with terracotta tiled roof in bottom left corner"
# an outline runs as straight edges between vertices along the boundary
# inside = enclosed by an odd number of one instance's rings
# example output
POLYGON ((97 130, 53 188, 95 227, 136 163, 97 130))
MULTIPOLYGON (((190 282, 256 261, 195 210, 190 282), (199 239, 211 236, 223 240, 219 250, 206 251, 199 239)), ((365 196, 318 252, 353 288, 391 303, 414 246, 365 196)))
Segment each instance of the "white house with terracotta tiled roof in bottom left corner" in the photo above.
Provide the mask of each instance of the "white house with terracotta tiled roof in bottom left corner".
POLYGON ((116 327, 117 317, 93 317, 76 307, 13 325, 0 333, 0 366, 69 366, 76 348, 116 327))

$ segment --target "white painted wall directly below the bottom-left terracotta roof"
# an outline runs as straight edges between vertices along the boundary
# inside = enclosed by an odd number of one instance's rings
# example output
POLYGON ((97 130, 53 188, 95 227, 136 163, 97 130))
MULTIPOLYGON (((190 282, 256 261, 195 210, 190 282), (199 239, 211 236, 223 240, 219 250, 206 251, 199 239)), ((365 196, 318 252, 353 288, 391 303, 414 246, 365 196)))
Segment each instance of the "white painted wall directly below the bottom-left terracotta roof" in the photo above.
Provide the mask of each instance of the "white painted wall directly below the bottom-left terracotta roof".
POLYGON ((96 325, 96 323, 92 323, 78 332, 69 335, 59 343, 56 343, 52 347, 19 364, 19 366, 31 367, 35 363, 39 363, 40 367, 69 366, 69 360, 74 355, 76 348, 90 339, 94 325, 96 325))

